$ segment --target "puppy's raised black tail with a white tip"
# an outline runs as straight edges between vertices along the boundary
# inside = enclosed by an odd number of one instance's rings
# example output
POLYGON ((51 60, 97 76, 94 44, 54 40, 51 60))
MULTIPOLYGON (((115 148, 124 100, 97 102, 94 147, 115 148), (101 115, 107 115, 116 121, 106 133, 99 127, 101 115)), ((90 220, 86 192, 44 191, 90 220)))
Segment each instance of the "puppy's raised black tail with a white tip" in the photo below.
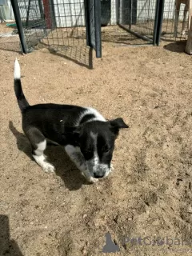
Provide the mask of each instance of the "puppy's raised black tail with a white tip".
POLYGON ((23 112, 24 110, 26 110, 27 106, 30 106, 30 104, 27 102, 26 97, 22 91, 20 65, 17 58, 14 62, 14 92, 18 99, 18 106, 23 112))

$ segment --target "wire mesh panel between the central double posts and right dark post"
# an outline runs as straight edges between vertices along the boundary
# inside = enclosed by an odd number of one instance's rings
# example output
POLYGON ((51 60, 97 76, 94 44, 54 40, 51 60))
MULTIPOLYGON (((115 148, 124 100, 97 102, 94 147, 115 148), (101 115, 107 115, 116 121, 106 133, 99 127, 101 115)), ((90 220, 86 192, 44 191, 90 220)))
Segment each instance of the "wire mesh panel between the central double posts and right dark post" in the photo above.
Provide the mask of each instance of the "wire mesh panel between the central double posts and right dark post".
POLYGON ((102 0, 102 42, 152 43, 156 0, 102 0))

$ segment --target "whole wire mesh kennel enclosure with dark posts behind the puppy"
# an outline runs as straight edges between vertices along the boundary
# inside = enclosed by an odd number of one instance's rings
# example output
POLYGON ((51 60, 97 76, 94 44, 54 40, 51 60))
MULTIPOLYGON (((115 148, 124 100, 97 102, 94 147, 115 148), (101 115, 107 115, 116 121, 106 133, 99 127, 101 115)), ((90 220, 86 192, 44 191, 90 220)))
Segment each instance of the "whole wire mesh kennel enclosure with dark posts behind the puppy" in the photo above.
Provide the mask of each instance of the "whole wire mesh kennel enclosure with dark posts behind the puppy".
POLYGON ((102 56, 102 42, 158 45, 161 38, 178 39, 186 11, 182 4, 178 34, 175 34, 173 24, 178 10, 175 10, 174 0, 11 2, 24 52, 40 42, 54 50, 90 46, 96 50, 97 57, 102 56))

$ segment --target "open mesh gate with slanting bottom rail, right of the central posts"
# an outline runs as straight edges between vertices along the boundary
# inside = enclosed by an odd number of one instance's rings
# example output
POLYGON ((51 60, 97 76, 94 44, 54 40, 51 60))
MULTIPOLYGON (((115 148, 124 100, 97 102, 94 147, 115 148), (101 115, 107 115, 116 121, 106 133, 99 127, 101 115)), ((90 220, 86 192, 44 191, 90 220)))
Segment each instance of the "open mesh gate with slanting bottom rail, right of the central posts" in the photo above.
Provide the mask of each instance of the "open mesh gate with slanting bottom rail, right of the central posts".
POLYGON ((137 40, 136 44, 144 42, 158 44, 162 2, 161 0, 118 0, 116 14, 118 26, 132 34, 133 38, 140 38, 141 40, 137 40))

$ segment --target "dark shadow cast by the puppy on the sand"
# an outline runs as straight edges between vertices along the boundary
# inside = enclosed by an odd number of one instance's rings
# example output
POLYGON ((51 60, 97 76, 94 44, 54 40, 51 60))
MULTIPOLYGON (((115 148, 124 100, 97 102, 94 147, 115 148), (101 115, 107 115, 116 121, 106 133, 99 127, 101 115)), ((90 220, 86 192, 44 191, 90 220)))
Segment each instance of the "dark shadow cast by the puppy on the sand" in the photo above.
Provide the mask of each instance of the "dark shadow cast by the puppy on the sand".
MULTIPOLYGON (((25 134, 20 133, 11 121, 9 123, 9 128, 17 139, 18 150, 24 152, 31 160, 34 161, 31 154, 30 142, 26 138, 25 134)), ((47 156, 47 160, 55 166, 55 173, 62 178, 62 181, 69 190, 78 190, 83 184, 90 184, 86 182, 86 179, 82 176, 81 172, 74 166, 74 163, 70 161, 70 158, 62 146, 53 146, 48 144, 45 154, 47 156)), ((43 171, 40 166, 39 170, 43 171)))

